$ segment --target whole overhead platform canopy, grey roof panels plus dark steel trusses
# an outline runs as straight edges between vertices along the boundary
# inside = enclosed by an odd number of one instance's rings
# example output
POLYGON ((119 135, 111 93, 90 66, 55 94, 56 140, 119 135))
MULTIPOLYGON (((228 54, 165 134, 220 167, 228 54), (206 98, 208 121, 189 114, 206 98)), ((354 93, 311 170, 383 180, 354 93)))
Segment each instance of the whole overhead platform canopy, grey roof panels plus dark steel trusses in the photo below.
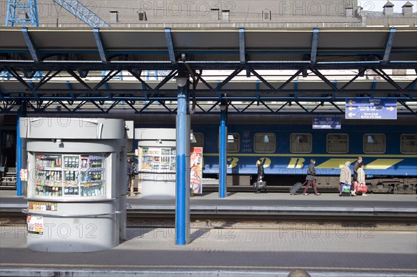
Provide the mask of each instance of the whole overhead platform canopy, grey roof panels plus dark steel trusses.
POLYGON ((2 27, 0 100, 3 110, 18 101, 165 101, 177 95, 172 80, 180 73, 190 76, 197 103, 374 96, 414 101, 416 42, 414 27, 2 27), (411 76, 395 78, 393 69, 411 76), (146 80, 146 72, 156 70, 164 72, 162 81, 146 80), (350 74, 329 77, 335 71, 350 74))

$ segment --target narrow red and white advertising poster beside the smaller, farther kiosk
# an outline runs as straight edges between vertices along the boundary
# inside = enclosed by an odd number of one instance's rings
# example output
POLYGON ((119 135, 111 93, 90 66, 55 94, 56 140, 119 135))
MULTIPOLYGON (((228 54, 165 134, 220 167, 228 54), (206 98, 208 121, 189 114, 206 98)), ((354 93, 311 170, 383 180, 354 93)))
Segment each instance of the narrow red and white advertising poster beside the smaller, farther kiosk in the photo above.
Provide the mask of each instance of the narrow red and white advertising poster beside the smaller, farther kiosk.
POLYGON ((203 148, 193 147, 190 151, 190 187, 194 194, 202 194, 203 148))

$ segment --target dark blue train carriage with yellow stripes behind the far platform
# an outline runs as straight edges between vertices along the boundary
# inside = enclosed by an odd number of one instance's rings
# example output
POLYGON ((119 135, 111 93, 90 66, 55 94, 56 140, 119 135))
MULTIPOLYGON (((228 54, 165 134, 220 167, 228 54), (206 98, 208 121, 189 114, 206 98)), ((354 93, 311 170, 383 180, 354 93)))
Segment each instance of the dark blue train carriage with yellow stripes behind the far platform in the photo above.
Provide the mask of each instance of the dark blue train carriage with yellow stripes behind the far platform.
MULTIPOLYGON (((415 120, 391 124, 343 124, 338 130, 313 130, 311 124, 229 124, 227 173, 256 174, 255 162, 263 160, 271 185, 283 176, 306 174, 311 158, 316 159, 318 184, 337 187, 340 168, 346 161, 363 157, 367 185, 373 192, 416 193, 417 127, 415 120)), ((206 176, 218 172, 218 126, 192 126, 197 142, 204 147, 206 176)))

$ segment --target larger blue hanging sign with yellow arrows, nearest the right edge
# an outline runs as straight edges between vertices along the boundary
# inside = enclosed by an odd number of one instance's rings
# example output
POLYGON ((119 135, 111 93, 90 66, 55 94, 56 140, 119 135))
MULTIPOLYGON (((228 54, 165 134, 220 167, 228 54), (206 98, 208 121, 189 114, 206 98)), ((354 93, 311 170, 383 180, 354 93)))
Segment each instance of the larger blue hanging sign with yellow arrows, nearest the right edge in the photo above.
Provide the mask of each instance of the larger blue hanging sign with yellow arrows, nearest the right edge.
POLYGON ((345 119, 397 119, 395 99, 346 99, 345 119))

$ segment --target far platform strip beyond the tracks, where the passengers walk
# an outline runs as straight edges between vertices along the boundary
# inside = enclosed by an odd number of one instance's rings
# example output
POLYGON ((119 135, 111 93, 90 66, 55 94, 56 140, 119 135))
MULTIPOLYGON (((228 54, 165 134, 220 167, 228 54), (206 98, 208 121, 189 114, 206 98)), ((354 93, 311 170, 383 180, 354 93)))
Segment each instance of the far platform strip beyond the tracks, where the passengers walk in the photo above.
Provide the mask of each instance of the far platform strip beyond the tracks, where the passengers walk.
MULTIPOLYGON (((26 199, 13 190, 0 190, 0 213, 20 212, 26 199)), ((127 196, 127 215, 174 217, 175 201, 144 199, 141 194, 127 196)), ((217 192, 190 197, 191 217, 315 217, 317 218, 417 218, 416 194, 367 194, 340 197, 337 193, 316 196, 289 193, 229 192, 219 199, 217 192)))

